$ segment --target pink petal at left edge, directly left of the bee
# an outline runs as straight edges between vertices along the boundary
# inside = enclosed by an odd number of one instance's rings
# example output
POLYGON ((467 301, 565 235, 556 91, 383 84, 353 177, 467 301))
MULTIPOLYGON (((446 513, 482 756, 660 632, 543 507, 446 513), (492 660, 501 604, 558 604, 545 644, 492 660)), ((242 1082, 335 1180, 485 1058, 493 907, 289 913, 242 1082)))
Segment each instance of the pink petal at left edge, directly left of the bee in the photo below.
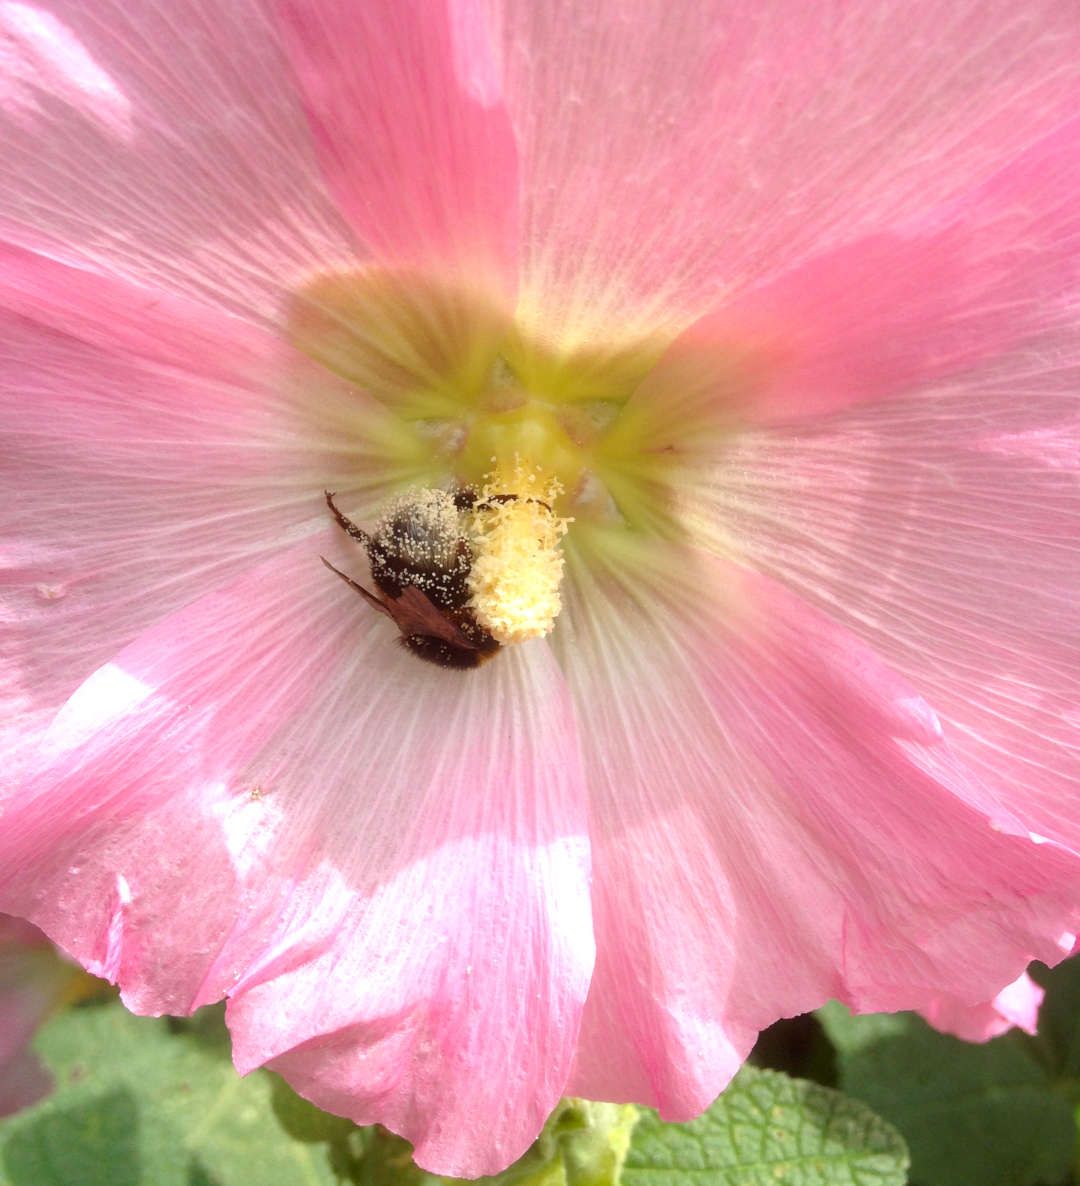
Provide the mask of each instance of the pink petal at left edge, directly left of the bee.
POLYGON ((331 407, 344 384, 186 299, 8 248, 0 334, 7 782, 14 751, 95 667, 321 521, 324 485, 363 459, 305 425, 293 396, 331 407))

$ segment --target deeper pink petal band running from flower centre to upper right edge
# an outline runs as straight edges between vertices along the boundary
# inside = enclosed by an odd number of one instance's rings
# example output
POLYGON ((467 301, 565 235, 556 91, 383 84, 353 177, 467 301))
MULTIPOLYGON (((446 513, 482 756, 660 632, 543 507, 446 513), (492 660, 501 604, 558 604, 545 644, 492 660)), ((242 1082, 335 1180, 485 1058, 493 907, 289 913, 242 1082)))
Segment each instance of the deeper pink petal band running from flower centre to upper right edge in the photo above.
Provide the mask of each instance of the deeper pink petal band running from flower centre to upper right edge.
POLYGON ((695 323, 637 394, 672 444, 893 397, 1044 332, 1080 280, 1080 120, 986 183, 695 323))

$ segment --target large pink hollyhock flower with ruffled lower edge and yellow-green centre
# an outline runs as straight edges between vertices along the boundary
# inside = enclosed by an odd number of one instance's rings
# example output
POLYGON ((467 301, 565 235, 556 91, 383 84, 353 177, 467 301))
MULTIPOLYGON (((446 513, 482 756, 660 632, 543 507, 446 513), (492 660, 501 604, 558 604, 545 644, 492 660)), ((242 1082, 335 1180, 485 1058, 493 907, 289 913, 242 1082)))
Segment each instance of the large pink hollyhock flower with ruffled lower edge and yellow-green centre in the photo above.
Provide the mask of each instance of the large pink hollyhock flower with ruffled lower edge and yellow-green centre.
POLYGON ((1072 946, 1071 12, 0 32, 4 908, 459 1175, 1072 946), (370 544, 485 483, 568 525, 561 611, 450 670, 325 492, 370 544))

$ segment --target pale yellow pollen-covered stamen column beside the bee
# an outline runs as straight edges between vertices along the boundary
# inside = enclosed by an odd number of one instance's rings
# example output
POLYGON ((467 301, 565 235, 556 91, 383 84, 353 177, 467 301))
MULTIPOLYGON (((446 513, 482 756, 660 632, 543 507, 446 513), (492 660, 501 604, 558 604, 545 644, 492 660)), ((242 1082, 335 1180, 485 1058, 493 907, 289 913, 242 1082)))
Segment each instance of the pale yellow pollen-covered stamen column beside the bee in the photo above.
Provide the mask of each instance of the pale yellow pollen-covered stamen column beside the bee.
POLYGON ((562 608, 560 541, 568 519, 551 509, 562 493, 554 478, 516 460, 505 477, 485 478, 469 522, 473 563, 468 606, 497 642, 522 643, 550 633, 562 608))

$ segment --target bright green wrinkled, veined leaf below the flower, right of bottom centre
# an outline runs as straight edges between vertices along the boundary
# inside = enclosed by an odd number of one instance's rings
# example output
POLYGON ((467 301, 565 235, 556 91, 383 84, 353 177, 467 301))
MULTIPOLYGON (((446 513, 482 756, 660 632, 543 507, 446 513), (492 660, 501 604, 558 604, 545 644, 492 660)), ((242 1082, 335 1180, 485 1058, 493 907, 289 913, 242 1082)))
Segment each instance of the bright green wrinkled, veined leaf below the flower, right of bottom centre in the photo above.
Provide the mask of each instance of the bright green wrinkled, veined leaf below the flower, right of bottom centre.
POLYGON ((816 1083, 745 1066, 695 1121, 646 1112, 624 1186, 901 1186, 907 1150, 869 1108, 816 1083))

